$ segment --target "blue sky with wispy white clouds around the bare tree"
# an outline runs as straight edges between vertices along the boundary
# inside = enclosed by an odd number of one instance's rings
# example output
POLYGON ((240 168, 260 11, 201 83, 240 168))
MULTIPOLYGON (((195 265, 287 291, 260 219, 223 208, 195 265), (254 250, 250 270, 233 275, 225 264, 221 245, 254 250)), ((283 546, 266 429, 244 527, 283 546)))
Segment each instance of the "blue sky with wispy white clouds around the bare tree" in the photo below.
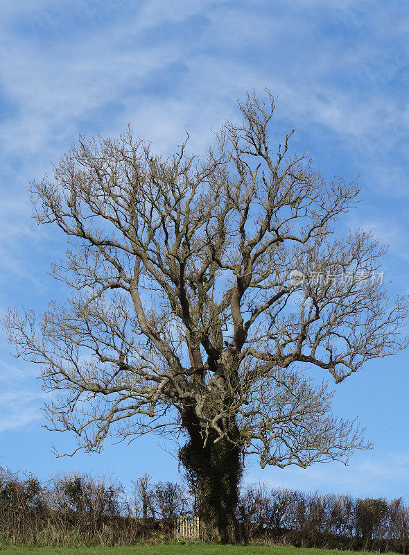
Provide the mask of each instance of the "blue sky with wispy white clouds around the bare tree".
MULTIPOLYGON (((0 3, 0 312, 42 311, 67 296, 47 272, 65 239, 31 220, 28 184, 78 135, 134 132, 171 153, 191 135, 204 151, 211 128, 239 117, 236 99, 265 86, 279 96, 275 128, 293 127, 324 176, 362 187, 342 225, 390 246, 388 293, 409 293, 409 4, 390 0, 19 0, 0 3)), ((335 411, 359 417, 374 450, 340 463, 261 470, 246 481, 409 502, 409 352, 373 361, 337 386, 335 411)), ((157 436, 107 443, 101 454, 56 459, 42 428, 37 368, 13 359, 0 336, 0 465, 42 478, 64 470, 144 472, 176 479, 175 445, 157 436)))

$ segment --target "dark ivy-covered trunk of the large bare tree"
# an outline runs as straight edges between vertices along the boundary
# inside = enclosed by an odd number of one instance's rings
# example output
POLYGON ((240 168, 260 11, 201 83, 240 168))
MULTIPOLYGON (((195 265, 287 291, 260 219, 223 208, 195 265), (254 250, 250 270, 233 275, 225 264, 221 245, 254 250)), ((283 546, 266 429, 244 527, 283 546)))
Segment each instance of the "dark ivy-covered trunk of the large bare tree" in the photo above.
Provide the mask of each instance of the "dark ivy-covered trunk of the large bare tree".
MULTIPOLYGON (((200 490, 199 517, 205 536, 214 539, 215 531, 222 543, 238 543, 241 533, 236 520, 238 486, 243 473, 240 452, 227 439, 214 443, 216 432, 206 444, 197 416, 187 409, 183 425, 189 441, 179 452, 179 459, 200 490)), ((233 434, 238 432, 233 424, 233 434)))

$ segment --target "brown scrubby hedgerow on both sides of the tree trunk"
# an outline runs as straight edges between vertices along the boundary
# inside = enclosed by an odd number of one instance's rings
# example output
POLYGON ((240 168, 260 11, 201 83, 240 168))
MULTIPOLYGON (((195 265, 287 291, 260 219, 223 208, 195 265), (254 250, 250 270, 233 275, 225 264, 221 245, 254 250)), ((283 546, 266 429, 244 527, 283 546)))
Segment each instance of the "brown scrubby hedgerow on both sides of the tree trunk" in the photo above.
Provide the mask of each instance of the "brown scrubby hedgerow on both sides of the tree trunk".
MULTIPOLYGON (((44 483, 0 468, 0 541, 26 545, 131 545, 173 536, 177 515, 198 513, 194 484, 154 484, 148 475, 125 493, 118 482, 58 475, 44 483)), ((238 505, 243 539, 327 549, 409 552, 409 507, 402 499, 355 499, 245 488, 238 505)))

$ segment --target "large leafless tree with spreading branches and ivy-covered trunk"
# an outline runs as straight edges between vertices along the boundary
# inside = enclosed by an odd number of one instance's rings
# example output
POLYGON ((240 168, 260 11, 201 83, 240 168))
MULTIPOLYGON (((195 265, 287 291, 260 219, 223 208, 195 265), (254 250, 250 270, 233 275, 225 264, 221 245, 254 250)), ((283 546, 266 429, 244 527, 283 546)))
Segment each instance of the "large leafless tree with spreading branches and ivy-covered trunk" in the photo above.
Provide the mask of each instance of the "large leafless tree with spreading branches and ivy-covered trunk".
POLYGON ((50 428, 100 450, 107 434, 182 432, 204 522, 237 538, 245 454, 261 466, 346 461, 365 442, 331 414, 333 391, 365 361, 406 346, 407 303, 388 309, 370 234, 334 221, 358 187, 324 180, 288 141, 271 142, 275 99, 239 104, 216 146, 166 160, 128 130, 80 138, 33 183, 35 219, 69 237, 53 274, 73 291, 5 318, 17 355, 42 365, 50 428), (375 279, 376 278, 376 279, 375 279))

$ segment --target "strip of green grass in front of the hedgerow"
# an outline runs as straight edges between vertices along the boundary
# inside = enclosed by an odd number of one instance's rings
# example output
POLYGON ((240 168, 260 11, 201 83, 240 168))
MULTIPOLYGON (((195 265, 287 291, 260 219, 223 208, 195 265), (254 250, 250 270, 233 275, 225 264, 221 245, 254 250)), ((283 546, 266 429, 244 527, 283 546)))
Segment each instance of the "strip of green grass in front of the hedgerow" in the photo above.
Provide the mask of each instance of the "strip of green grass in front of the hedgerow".
POLYGON ((132 547, 1 546, 1 555, 368 555, 368 552, 303 549, 270 545, 167 544, 132 547))

